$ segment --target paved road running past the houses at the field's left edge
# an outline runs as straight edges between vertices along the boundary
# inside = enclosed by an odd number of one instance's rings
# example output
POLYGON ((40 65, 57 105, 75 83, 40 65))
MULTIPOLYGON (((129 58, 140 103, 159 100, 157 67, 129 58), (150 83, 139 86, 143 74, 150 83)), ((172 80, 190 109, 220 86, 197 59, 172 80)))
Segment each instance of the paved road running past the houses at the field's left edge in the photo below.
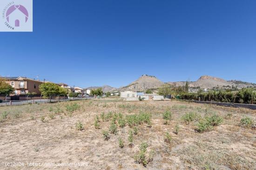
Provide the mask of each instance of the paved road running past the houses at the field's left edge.
MULTIPOLYGON (((76 99, 61 99, 55 100, 52 99, 51 102, 58 102, 58 101, 76 101, 76 100, 87 100, 91 99, 90 97, 87 98, 76 98, 76 99)), ((24 105, 24 104, 36 104, 36 103, 50 103, 49 99, 39 99, 39 100, 28 100, 28 101, 7 101, 0 103, 0 106, 10 106, 10 105, 24 105)))

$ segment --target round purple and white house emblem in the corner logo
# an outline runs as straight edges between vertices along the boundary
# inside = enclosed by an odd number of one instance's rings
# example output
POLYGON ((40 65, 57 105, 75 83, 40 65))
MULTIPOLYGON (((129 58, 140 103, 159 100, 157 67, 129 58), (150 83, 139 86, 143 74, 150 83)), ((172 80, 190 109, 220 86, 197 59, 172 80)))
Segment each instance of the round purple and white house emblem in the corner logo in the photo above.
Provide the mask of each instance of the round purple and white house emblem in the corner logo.
POLYGON ((15 27, 23 25, 28 20, 27 9, 22 5, 10 6, 6 12, 6 19, 10 25, 15 25, 15 27))

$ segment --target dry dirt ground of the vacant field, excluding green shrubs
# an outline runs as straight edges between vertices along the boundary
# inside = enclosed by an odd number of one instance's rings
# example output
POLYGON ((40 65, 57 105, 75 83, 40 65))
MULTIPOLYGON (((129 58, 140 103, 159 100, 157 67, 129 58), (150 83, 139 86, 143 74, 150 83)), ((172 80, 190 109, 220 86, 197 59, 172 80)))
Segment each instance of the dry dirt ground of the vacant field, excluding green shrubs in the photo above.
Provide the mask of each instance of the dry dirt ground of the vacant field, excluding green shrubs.
POLYGON ((92 100, 0 107, 0 114, 0 170, 256 170, 256 130, 240 124, 245 116, 256 122, 256 111, 249 109, 181 101, 92 100), (68 112, 67 105, 74 103, 77 110, 68 112), (172 113, 168 124, 165 111, 172 113), (137 126, 129 147, 127 125, 116 123, 117 133, 104 140, 102 131, 108 131, 113 118, 102 120, 103 112, 150 113, 151 124, 137 126), (198 121, 187 125, 181 120, 189 112, 202 117, 216 113, 223 122, 199 133, 198 121), (100 129, 94 127, 97 115, 100 129), (84 127, 81 131, 76 129, 78 122, 84 127), (178 134, 175 125, 180 127, 178 134), (135 163, 142 142, 148 144, 146 157, 155 153, 146 167, 135 163))

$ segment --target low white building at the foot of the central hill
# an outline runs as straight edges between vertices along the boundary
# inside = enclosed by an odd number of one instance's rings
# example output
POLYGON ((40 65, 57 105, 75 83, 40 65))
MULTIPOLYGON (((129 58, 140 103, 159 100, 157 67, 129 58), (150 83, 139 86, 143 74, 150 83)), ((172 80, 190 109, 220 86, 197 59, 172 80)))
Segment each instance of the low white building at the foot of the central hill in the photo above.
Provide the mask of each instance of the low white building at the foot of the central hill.
POLYGON ((139 97, 146 101, 162 101, 164 100, 162 95, 158 94, 144 94, 144 92, 132 92, 124 91, 120 92, 120 97, 126 101, 138 101, 139 97))

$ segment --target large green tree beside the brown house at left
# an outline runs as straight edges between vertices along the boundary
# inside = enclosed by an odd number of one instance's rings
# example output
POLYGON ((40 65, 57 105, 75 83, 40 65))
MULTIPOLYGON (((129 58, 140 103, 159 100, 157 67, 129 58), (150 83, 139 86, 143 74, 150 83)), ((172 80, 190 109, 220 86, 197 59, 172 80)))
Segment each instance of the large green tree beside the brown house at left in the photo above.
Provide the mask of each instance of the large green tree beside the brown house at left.
MULTIPOLYGON (((53 94, 55 95, 67 95, 67 90, 65 88, 61 88, 57 84, 52 82, 46 82, 39 86, 39 90, 43 95, 43 98, 50 98, 53 94)), ((50 98, 51 99, 51 98, 50 98)))

